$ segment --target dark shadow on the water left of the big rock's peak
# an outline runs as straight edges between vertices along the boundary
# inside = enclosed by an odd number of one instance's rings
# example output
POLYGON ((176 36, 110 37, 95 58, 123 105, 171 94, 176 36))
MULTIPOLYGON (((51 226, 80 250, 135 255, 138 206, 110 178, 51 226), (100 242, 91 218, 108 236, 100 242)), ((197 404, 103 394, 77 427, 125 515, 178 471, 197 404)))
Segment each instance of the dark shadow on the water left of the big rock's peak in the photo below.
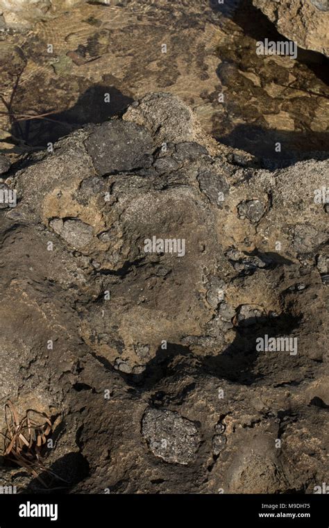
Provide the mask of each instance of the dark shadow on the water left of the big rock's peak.
MULTIPOLYGON (((31 147, 45 149, 49 142, 58 141, 84 124, 103 123, 114 115, 120 115, 132 102, 131 97, 113 86, 90 86, 71 108, 44 118, 15 122, 11 133, 17 140, 26 142, 31 147), (105 102, 105 94, 109 94, 109 102, 105 102)), ((47 110, 44 108, 44 113, 47 110)))

